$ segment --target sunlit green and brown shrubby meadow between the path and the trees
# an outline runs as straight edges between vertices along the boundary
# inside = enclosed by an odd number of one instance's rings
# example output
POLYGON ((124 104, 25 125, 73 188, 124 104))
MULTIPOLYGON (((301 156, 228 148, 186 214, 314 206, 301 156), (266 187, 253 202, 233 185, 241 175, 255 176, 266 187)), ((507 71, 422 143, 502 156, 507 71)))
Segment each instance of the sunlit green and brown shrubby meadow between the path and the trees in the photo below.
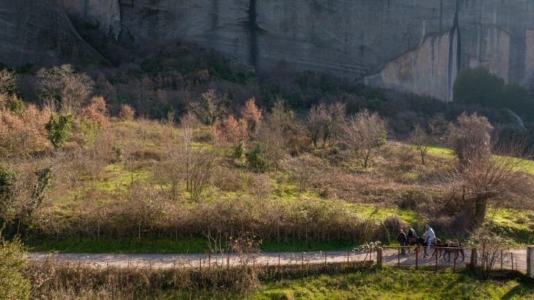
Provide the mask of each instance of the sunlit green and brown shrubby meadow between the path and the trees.
MULTIPOLYGON (((421 232, 424 224, 434 221, 427 208, 439 201, 442 190, 429 184, 428 178, 446 172, 455 163, 453 152, 443 147, 430 147, 426 165, 414 154, 404 161, 401 152, 410 147, 399 142, 388 142, 368 169, 359 167, 345 153, 311 149, 320 164, 311 169, 315 175, 309 178, 307 188, 301 189, 284 167, 263 174, 253 172, 244 157, 232 157, 232 144, 214 140, 211 129, 200 126, 195 129, 193 147, 216 152, 217 165, 210 171, 213 176, 201 199, 191 201, 181 182, 179 192, 170 199, 170 185, 161 180, 159 168, 168 163, 168 149, 180 147, 182 131, 179 126, 146 119, 114 121, 82 151, 69 150, 74 146, 67 144, 64 156, 33 161, 40 165, 54 160, 57 172, 40 211, 47 222, 39 225, 40 233, 26 233, 31 250, 210 251, 213 244, 207 233, 195 228, 204 226, 205 220, 198 219, 199 208, 226 222, 230 231, 241 226, 261 235, 262 225, 255 223, 267 223, 263 226, 269 227, 269 233, 262 241, 262 251, 351 249, 369 240, 395 243, 393 231, 398 226, 412 224, 421 232), (99 144, 103 141, 105 144, 99 144), (113 147, 123 149, 122 158, 114 157, 113 147), (102 156, 94 156, 99 153, 102 156), (281 216, 283 220, 266 220, 281 216), (129 219, 127 228, 124 219, 129 219), (392 219, 395 224, 386 224, 392 219), (168 228, 172 222, 177 223, 174 229, 168 228), (309 237, 302 231, 306 226, 310 227, 309 237), (340 231, 325 237, 321 227, 340 231), (347 227, 352 231, 344 231, 347 227), (280 228, 286 232, 273 233, 280 228), (362 230, 371 234, 364 235, 362 230)), ((531 165, 531 161, 526 163, 531 165)), ((518 246, 534 240, 531 210, 490 208, 486 223, 518 246)), ((443 238, 458 236, 447 228, 438 229, 437 234, 443 238)))

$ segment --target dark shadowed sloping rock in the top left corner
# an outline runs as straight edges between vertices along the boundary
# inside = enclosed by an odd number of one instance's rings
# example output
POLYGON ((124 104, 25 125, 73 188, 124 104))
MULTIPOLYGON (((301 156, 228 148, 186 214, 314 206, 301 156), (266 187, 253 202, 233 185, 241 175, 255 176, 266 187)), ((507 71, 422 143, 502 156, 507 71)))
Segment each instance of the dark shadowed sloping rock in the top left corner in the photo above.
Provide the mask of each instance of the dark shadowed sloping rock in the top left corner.
POLYGON ((53 0, 0 2, 0 63, 55 65, 105 63, 74 30, 65 11, 53 0))

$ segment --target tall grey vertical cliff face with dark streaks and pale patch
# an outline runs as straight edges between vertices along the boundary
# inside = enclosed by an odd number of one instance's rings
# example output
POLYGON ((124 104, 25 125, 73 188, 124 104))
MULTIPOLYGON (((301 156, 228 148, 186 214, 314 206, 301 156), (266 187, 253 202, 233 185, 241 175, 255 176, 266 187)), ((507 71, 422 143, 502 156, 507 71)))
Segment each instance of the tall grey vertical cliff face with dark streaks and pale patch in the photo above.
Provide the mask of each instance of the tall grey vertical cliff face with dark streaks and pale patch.
MULTIPOLYGON (((284 65, 444 100, 451 100, 455 76, 464 67, 484 66, 521 84, 534 69, 534 0, 60 3, 71 19, 99 24, 133 44, 190 40, 260 72, 284 65)), ((0 60, 5 51, 0 49, 0 60)))

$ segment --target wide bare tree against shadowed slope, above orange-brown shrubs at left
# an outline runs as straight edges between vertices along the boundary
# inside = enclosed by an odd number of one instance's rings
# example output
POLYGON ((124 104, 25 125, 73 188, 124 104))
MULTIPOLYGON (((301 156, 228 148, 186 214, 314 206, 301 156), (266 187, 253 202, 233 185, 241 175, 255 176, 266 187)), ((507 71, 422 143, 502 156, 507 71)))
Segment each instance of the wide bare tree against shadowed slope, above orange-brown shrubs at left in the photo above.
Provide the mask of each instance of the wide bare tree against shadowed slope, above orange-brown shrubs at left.
POLYGON ((71 65, 40 69, 40 97, 52 110, 77 114, 92 94, 95 83, 71 65))

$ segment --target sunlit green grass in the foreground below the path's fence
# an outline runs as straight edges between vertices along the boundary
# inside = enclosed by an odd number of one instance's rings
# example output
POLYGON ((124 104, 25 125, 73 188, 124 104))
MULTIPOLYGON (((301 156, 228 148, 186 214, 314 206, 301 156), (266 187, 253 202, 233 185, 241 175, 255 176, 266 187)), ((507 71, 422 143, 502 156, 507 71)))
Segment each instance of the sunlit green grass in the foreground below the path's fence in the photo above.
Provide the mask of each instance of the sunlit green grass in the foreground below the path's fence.
MULTIPOLYGON (((513 277, 513 276, 512 276, 513 277)), ((316 276, 261 285, 250 295, 229 292, 168 292, 153 299, 533 299, 534 285, 526 278, 480 281, 459 274, 382 269, 355 274, 316 276)))

